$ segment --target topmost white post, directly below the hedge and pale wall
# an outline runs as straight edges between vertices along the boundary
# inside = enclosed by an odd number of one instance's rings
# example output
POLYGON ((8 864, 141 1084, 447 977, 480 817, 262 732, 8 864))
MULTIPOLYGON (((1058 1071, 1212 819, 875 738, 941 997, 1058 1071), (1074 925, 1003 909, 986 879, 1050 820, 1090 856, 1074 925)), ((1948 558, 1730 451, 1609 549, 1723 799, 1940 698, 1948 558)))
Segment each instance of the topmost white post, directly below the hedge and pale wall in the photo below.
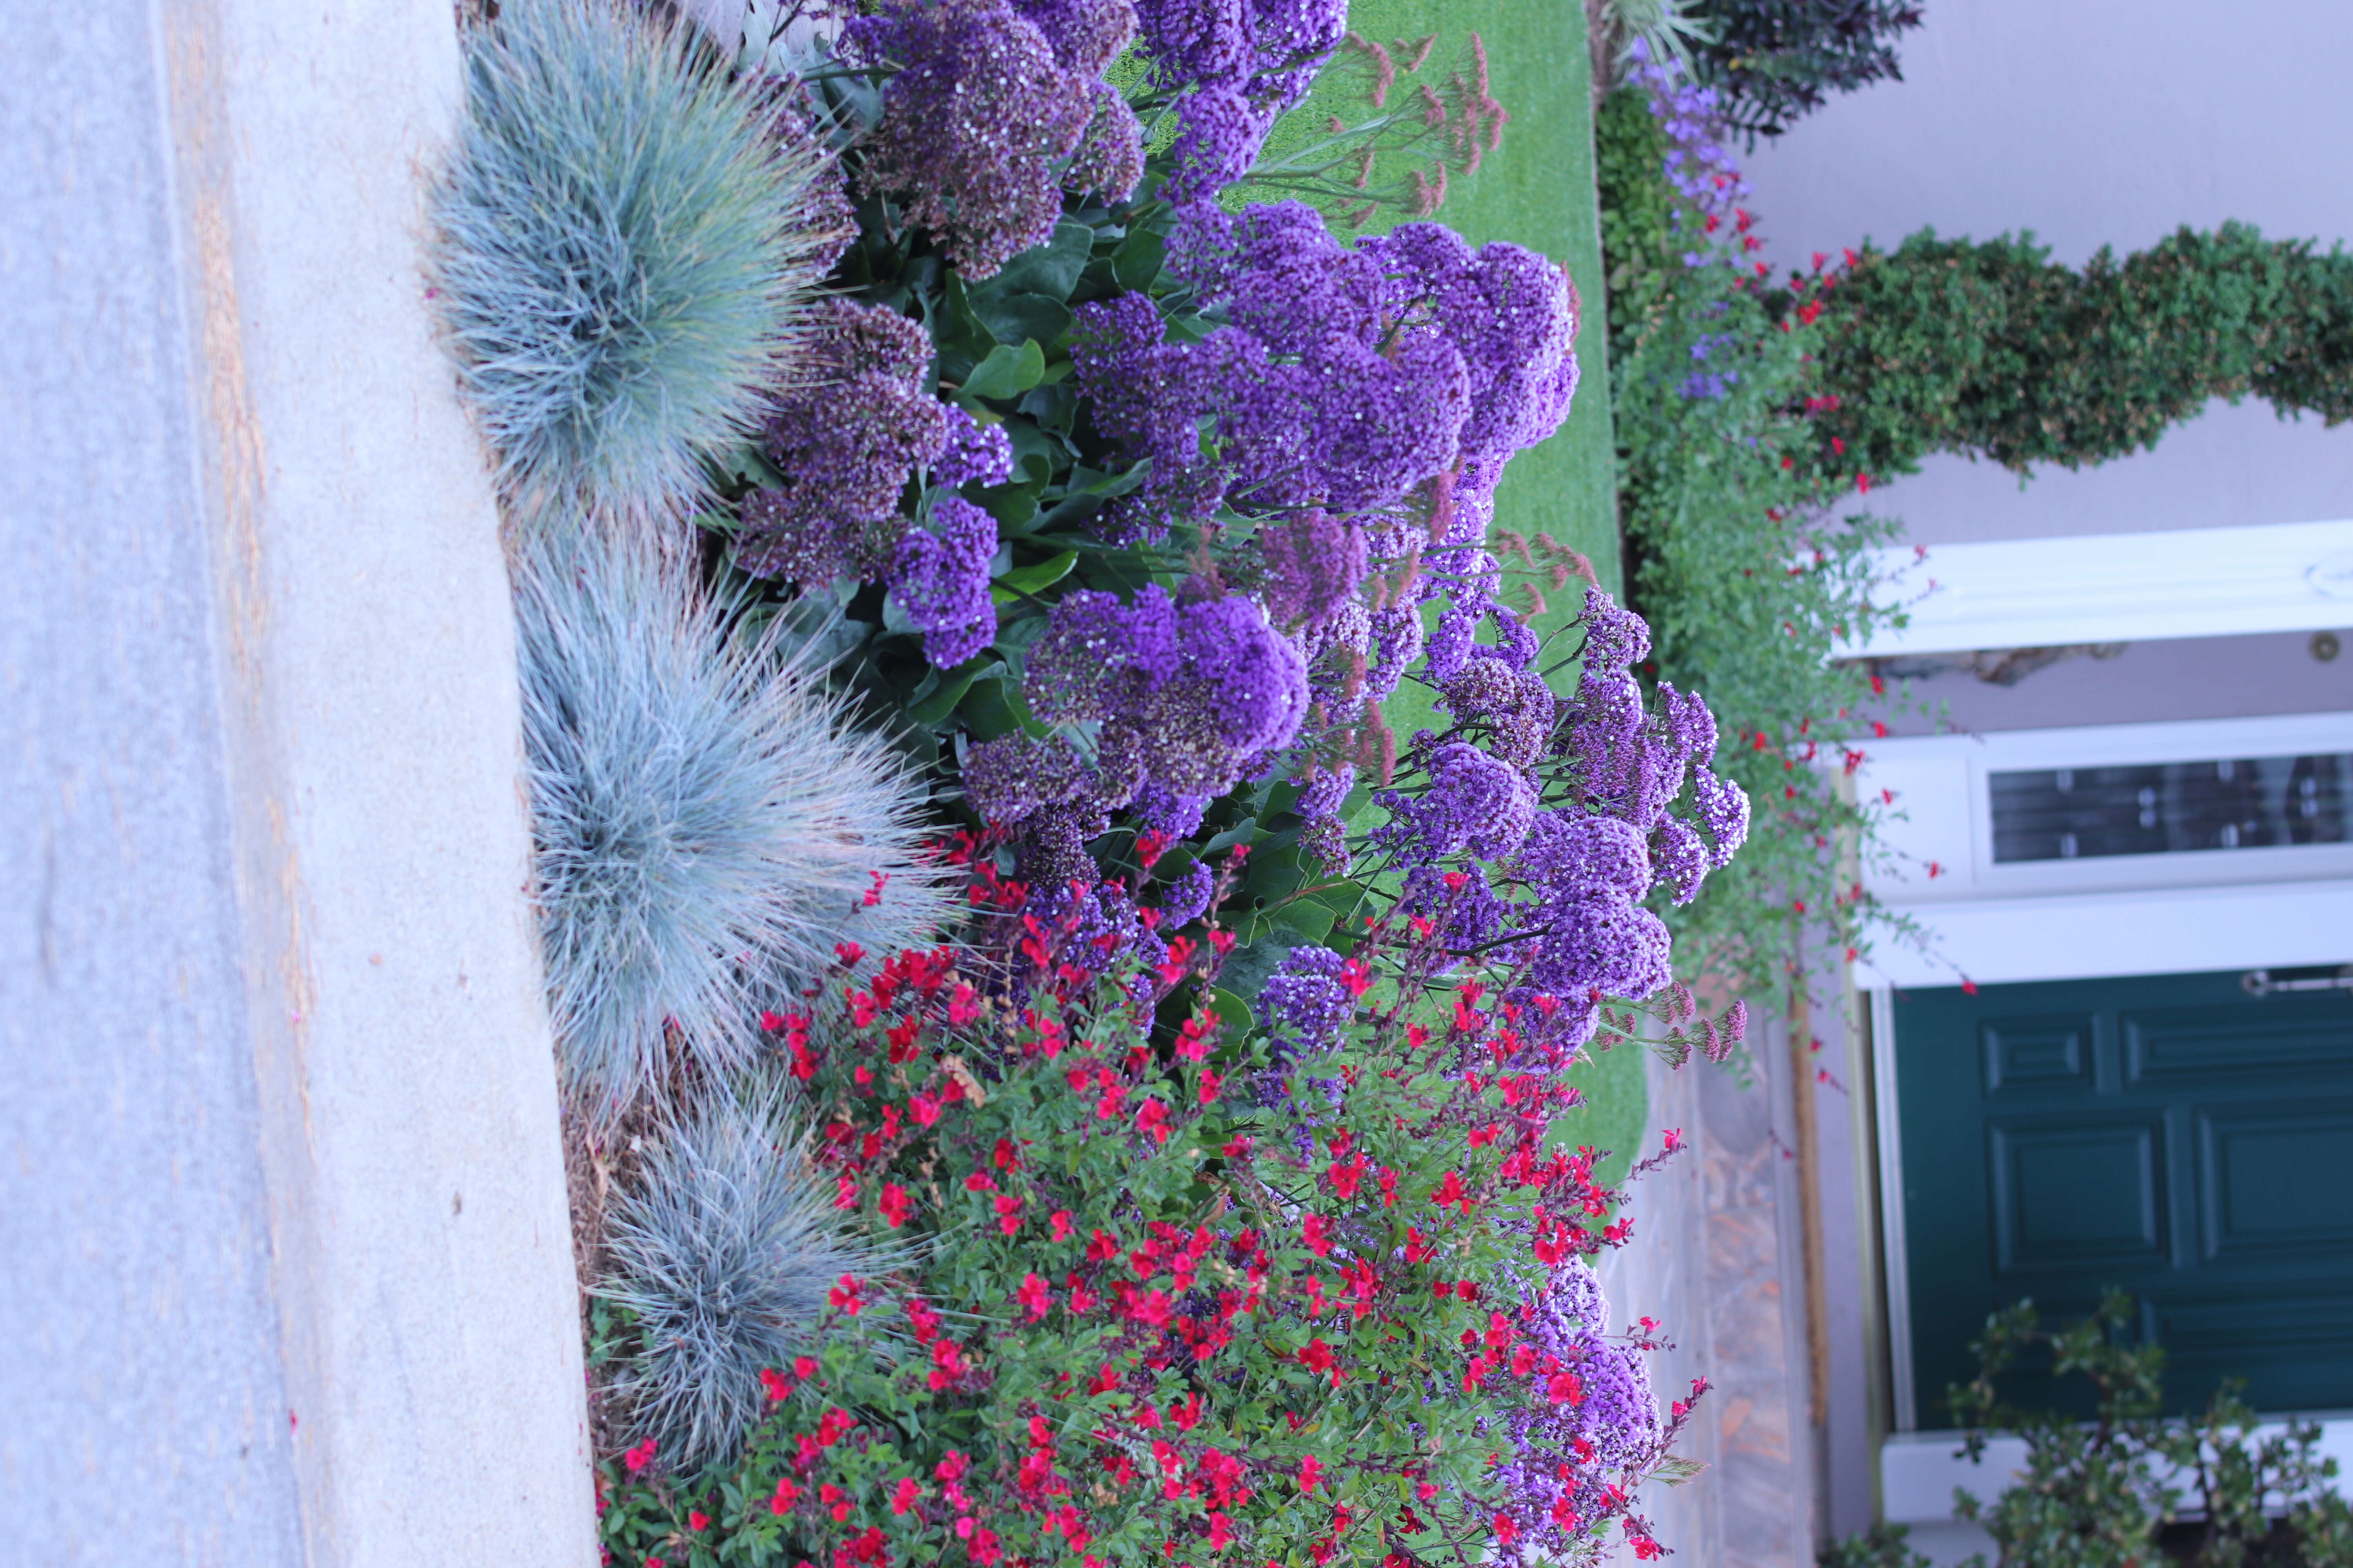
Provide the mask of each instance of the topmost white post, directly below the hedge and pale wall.
POLYGON ((2353 625, 2353 522, 1894 548, 1873 576, 1911 621, 1847 658, 2308 632, 2353 625))

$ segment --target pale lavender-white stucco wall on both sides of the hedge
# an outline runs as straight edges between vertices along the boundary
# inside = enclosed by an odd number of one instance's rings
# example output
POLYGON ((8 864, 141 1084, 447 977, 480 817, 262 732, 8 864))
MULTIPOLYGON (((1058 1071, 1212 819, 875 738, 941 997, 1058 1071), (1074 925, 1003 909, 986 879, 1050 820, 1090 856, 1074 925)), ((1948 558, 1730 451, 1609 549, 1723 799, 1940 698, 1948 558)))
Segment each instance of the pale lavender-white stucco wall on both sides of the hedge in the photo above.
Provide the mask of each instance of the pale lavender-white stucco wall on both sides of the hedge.
MULTIPOLYGON (((1777 266, 1918 228, 2031 228, 2082 263, 2181 223, 2353 240, 2353 7, 2273 0, 1944 0, 1904 80, 1833 99, 1748 155, 1777 266)), ((1937 456, 1873 489, 1920 543, 2353 517, 2353 425, 2214 407, 2151 454, 2038 475, 1937 456)))

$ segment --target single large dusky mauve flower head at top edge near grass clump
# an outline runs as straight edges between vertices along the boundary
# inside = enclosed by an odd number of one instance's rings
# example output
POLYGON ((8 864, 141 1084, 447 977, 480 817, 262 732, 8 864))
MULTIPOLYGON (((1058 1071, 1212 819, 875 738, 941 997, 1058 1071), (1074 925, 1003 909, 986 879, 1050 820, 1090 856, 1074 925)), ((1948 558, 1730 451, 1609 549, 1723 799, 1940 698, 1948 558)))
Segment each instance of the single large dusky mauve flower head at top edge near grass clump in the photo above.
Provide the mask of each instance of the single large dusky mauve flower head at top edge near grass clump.
POLYGON ((995 277, 1061 216, 1059 165, 1094 120, 1085 73, 1009 0, 889 0, 842 28, 842 54, 894 68, 859 183, 899 193, 965 277, 995 277))

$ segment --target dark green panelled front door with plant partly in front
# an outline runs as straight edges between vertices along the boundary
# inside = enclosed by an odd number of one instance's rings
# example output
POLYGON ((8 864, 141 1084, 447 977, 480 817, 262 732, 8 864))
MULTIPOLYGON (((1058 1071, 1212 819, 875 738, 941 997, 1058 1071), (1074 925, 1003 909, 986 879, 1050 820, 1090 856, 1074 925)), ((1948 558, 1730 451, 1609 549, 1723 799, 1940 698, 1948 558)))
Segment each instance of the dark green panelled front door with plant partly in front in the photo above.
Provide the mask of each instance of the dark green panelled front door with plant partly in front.
POLYGON ((2167 1347, 2174 1406, 2224 1375, 2259 1410, 2353 1406, 2353 992, 1918 990, 1894 1070, 1922 1427, 1993 1307, 2068 1316, 2108 1286, 2167 1347))

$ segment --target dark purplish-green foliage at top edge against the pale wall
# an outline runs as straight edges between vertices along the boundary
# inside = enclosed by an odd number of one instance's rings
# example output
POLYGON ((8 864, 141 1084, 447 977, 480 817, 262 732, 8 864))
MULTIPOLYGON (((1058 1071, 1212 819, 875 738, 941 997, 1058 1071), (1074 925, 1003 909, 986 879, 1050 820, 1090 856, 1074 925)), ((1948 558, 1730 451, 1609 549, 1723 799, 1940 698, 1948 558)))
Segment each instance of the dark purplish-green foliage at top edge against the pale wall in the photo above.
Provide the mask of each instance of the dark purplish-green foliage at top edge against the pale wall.
POLYGON ((1704 0, 1697 75, 1751 136, 1779 136, 1833 92, 1901 80, 1894 40, 1920 26, 1906 0, 1704 0))

